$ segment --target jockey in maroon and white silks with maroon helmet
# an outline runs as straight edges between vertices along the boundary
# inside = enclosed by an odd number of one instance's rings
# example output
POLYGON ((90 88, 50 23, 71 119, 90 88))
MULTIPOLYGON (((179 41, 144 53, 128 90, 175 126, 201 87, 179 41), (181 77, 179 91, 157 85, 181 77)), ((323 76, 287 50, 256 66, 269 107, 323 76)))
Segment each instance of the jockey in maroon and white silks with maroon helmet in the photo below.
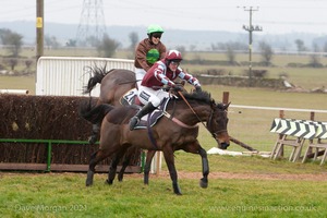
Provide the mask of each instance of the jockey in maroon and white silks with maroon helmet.
POLYGON ((161 88, 164 85, 168 85, 175 90, 182 89, 173 82, 177 77, 194 85, 196 92, 202 90, 198 80, 179 68, 182 60, 180 51, 169 50, 164 59, 157 61, 146 72, 137 94, 140 101, 145 106, 130 120, 131 131, 134 130, 143 116, 154 111, 164 98, 169 97, 169 93, 161 88))

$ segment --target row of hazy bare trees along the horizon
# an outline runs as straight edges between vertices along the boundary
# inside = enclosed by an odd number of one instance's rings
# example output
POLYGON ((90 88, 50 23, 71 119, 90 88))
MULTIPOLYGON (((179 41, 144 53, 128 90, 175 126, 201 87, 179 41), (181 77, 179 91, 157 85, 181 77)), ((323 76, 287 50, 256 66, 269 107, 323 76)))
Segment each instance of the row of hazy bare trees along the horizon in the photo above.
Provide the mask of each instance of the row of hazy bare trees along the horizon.
MULTIPOLYGON (((9 58, 19 58, 20 53, 22 51, 23 46, 23 36, 12 32, 7 28, 0 28, 0 39, 1 44, 5 46, 7 53, 9 58)), ((136 47, 136 44, 138 43, 138 35, 135 32, 132 32, 129 34, 130 45, 128 49, 130 49, 132 52, 134 51, 134 48, 136 47)), ((304 45, 304 41, 302 39, 296 39, 294 41, 296 45, 298 52, 308 51, 310 49, 304 45)), ((52 48, 60 48, 62 45, 58 41, 58 39, 55 36, 45 36, 45 46, 52 47, 52 48)), ((101 39, 96 39, 95 37, 89 37, 85 39, 84 41, 76 41, 74 39, 69 39, 65 44, 66 47, 94 47, 97 49, 99 57, 104 58, 111 58, 116 55, 117 50, 122 47, 122 45, 112 38, 108 34, 105 34, 101 39)), ((228 63, 231 65, 234 65, 237 63, 237 51, 239 50, 246 50, 249 48, 249 45, 242 44, 242 43, 218 43, 211 45, 213 51, 225 51, 226 57, 228 60, 228 63)), ((178 48, 183 53, 186 52, 185 47, 180 46, 178 48)), ((191 50, 195 48, 190 48, 191 50)), ((271 48, 271 46, 266 41, 259 41, 257 49, 261 53, 262 61, 261 63, 265 66, 271 65, 271 60, 274 59, 275 51, 271 48)), ((320 68, 323 64, 319 62, 319 56, 317 52, 324 51, 327 52, 327 43, 325 44, 323 49, 319 49, 317 45, 313 45, 313 52, 311 55, 311 61, 308 66, 313 68, 320 68)), ((14 59, 12 59, 10 65, 12 70, 14 69, 16 62, 14 59)), ((26 63, 27 64, 27 63, 26 63)))

